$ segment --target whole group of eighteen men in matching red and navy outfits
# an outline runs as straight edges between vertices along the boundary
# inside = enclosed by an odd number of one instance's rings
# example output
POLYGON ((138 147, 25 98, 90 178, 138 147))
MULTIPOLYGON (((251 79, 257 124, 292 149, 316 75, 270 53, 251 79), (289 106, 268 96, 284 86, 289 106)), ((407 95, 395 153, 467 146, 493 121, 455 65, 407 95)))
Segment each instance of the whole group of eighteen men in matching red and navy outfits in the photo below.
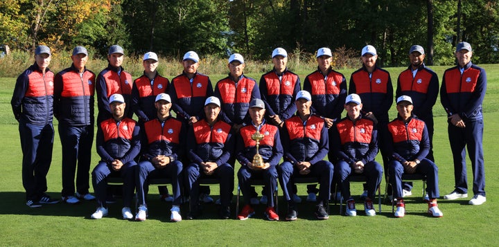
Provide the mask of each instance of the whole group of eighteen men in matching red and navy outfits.
POLYGON ((317 50, 317 70, 303 82, 288 69, 285 49, 271 54, 273 69, 259 82, 244 74, 243 55, 234 53, 227 77, 212 84, 198 72, 200 57, 194 51, 185 53, 182 73, 171 80, 157 72, 158 55, 145 53, 143 75, 133 80, 121 66, 121 46, 110 46, 108 66, 98 75, 86 67, 85 47, 76 46, 71 66, 55 73, 49 69, 51 49, 37 46, 35 62, 17 77, 11 100, 19 122, 26 205, 96 201, 96 211, 89 215, 101 219, 118 198, 123 219, 145 221, 150 181, 166 179, 171 190, 164 184, 157 188, 161 200, 171 203, 173 222, 199 218, 209 210, 203 207, 207 203, 217 205, 213 208, 220 219, 248 219, 255 214, 254 205, 263 204, 265 219, 295 221, 302 201, 296 183, 305 179, 313 181, 305 193, 314 205, 310 211, 324 220, 334 200, 344 201, 342 214, 357 215, 350 191, 351 178, 357 176, 364 181, 362 214, 376 215, 373 201, 387 181, 387 200, 399 218, 405 216, 404 197, 412 195, 412 183, 404 177, 419 174, 427 185, 423 201, 428 215, 443 217, 437 199, 469 197, 466 156, 473 171, 469 204, 485 203, 482 102, 487 75, 471 62, 471 44, 457 44, 457 65, 441 80, 425 66, 423 47, 410 46, 410 65, 393 83, 377 66, 378 53, 371 45, 362 48, 362 67, 349 82, 333 70, 330 48, 317 50), (443 196, 432 152, 432 109, 440 107, 438 96, 448 116, 455 177, 454 190, 443 196), (397 116, 390 119, 394 102, 397 116), (62 146, 60 199, 46 194, 54 117, 62 146), (98 164, 91 164, 94 148, 98 164), (122 185, 108 185, 110 178, 119 178, 122 185), (219 184, 218 199, 202 183, 206 179, 219 184), (236 212, 235 183, 243 194, 236 212), (257 192, 254 185, 263 187, 257 192), (278 189, 286 206, 282 215, 278 189), (188 210, 182 213, 183 203, 188 210))

